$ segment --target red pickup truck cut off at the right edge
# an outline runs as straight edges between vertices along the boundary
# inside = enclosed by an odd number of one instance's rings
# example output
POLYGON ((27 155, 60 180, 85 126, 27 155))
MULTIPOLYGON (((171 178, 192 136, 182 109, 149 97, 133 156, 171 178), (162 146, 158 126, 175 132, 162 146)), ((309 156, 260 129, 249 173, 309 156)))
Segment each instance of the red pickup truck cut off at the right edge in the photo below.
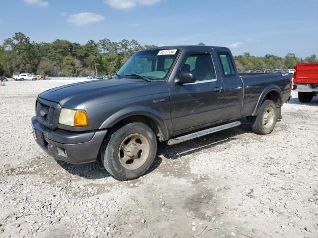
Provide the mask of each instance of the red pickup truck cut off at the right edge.
POLYGON ((318 95, 318 62, 298 63, 295 67, 293 90, 302 103, 309 103, 318 95))

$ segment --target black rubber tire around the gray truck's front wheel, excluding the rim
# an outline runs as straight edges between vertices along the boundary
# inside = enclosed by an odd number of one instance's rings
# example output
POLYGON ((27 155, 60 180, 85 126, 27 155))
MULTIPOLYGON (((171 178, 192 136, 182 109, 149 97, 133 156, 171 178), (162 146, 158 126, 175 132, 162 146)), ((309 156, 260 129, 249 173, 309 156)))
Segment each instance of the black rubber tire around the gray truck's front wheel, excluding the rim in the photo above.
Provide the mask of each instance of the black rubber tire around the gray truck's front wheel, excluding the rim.
POLYGON ((157 153, 157 138, 153 130, 145 123, 132 122, 124 124, 121 127, 114 128, 113 131, 110 131, 110 135, 108 137, 106 136, 106 139, 102 144, 100 153, 101 160, 105 169, 115 179, 137 179, 143 176, 149 170, 155 160, 155 156, 157 153), (148 156, 145 156, 146 159, 139 168, 127 169, 120 161, 122 153, 122 150, 120 150, 120 148, 122 143, 125 143, 127 138, 133 134, 140 134, 148 141, 148 156))

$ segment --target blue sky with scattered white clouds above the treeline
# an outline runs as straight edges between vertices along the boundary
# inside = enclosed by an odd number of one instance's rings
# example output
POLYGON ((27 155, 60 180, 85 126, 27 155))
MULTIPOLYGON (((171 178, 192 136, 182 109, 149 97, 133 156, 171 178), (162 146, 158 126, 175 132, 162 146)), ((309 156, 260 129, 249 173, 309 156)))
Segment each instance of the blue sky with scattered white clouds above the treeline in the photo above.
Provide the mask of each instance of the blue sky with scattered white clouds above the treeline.
POLYGON ((226 46, 234 55, 318 55, 318 0, 0 0, 0 44, 136 39, 226 46))

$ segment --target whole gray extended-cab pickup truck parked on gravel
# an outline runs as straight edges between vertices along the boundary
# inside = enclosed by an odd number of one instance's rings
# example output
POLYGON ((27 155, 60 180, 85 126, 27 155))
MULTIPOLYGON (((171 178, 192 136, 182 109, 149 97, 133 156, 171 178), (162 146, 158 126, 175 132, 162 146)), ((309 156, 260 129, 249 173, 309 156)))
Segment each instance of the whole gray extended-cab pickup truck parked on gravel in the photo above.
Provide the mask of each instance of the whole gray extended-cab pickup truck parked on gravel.
POLYGON ((57 160, 101 159, 119 180, 144 175, 168 145, 240 125, 270 133, 291 94, 289 73, 239 75, 225 47, 135 53, 113 79, 53 88, 36 100, 36 142, 57 160))

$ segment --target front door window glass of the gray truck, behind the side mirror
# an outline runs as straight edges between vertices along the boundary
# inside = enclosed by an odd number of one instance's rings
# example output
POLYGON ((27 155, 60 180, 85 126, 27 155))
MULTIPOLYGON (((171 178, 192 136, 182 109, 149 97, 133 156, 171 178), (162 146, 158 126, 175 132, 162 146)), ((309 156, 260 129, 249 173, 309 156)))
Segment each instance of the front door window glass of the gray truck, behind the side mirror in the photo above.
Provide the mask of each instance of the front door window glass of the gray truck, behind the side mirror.
POLYGON ((188 56, 181 71, 193 73, 196 81, 216 78, 212 58, 209 54, 188 56))

